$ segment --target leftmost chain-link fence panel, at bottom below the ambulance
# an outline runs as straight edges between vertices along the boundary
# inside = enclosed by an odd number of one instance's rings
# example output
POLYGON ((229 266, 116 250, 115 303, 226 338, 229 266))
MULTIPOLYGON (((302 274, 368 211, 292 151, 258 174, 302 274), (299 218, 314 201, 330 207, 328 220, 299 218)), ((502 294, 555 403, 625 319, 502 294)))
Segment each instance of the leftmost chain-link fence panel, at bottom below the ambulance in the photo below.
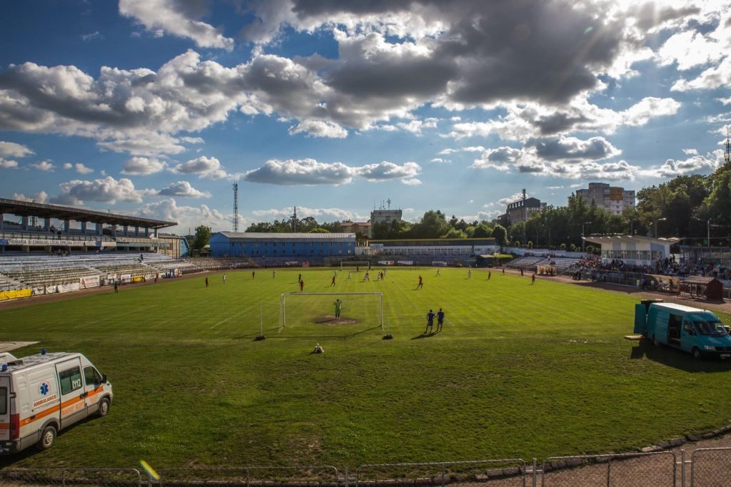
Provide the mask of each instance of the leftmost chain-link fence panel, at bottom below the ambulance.
POLYGON ((141 486, 136 469, 1 469, 1 487, 141 486))

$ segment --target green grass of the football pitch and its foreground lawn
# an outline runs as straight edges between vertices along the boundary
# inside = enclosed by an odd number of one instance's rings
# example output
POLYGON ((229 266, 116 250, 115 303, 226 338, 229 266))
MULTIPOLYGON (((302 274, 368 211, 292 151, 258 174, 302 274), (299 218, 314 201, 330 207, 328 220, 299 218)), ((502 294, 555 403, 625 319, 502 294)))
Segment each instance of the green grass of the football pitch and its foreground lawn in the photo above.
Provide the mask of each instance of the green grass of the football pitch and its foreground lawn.
MULTIPOLYGON (((279 334, 297 271, 229 272, 0 312, 3 340, 79 351, 115 391, 15 467, 438 461, 629 450, 731 421, 731 365, 645 349, 632 296, 466 270, 394 269, 360 283, 303 272, 308 292, 382 291, 394 340, 368 323, 279 334), (259 334, 265 302, 268 339, 259 334), (428 309, 441 334, 421 337, 428 309), (355 331, 361 331, 355 333, 355 331), (315 343, 325 354, 311 354, 315 343)), ((333 299, 334 300, 334 299, 333 299)), ((332 312, 327 300, 327 310, 332 312)), ((315 315, 321 310, 313 310, 315 315)), ((344 310, 344 315, 348 313, 344 310)), ((726 323, 730 316, 721 315, 726 323)), ((7 464, 7 459, 5 464, 7 464)))

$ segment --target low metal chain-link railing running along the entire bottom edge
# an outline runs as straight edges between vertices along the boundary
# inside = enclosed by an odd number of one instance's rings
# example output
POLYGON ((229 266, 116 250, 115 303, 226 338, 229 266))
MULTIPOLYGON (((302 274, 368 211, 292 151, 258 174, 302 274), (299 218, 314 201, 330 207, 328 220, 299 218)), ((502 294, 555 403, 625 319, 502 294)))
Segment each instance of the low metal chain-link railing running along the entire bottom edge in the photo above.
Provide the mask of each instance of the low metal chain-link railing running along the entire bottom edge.
POLYGON ((731 486, 731 447, 612 453, 533 459, 433 461, 362 464, 338 470, 330 465, 300 467, 162 468, 157 478, 137 469, 0 469, 0 487, 30 486, 183 486, 242 487, 720 487, 731 486), (689 466, 689 467, 688 467, 689 466))

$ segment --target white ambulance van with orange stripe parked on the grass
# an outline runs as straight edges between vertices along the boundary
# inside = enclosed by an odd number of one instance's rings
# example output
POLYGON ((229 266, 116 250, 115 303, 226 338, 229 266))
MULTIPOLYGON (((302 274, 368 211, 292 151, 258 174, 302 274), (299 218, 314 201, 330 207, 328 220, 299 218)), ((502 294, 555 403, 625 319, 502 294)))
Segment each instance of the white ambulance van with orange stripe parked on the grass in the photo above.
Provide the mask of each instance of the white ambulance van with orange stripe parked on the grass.
POLYGON ((0 362, 0 455, 47 450, 61 429, 105 416, 112 385, 80 353, 46 353, 0 362))

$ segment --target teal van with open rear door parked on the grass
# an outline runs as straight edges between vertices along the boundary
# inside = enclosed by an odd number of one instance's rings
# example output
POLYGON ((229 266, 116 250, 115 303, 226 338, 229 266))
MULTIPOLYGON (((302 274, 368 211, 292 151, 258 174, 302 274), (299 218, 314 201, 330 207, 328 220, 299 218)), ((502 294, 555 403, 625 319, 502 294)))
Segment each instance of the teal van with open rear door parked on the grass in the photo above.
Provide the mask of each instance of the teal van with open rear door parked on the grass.
POLYGON ((635 333, 655 345, 670 345, 701 356, 731 358, 731 336, 712 312, 682 304, 635 304, 635 333))

